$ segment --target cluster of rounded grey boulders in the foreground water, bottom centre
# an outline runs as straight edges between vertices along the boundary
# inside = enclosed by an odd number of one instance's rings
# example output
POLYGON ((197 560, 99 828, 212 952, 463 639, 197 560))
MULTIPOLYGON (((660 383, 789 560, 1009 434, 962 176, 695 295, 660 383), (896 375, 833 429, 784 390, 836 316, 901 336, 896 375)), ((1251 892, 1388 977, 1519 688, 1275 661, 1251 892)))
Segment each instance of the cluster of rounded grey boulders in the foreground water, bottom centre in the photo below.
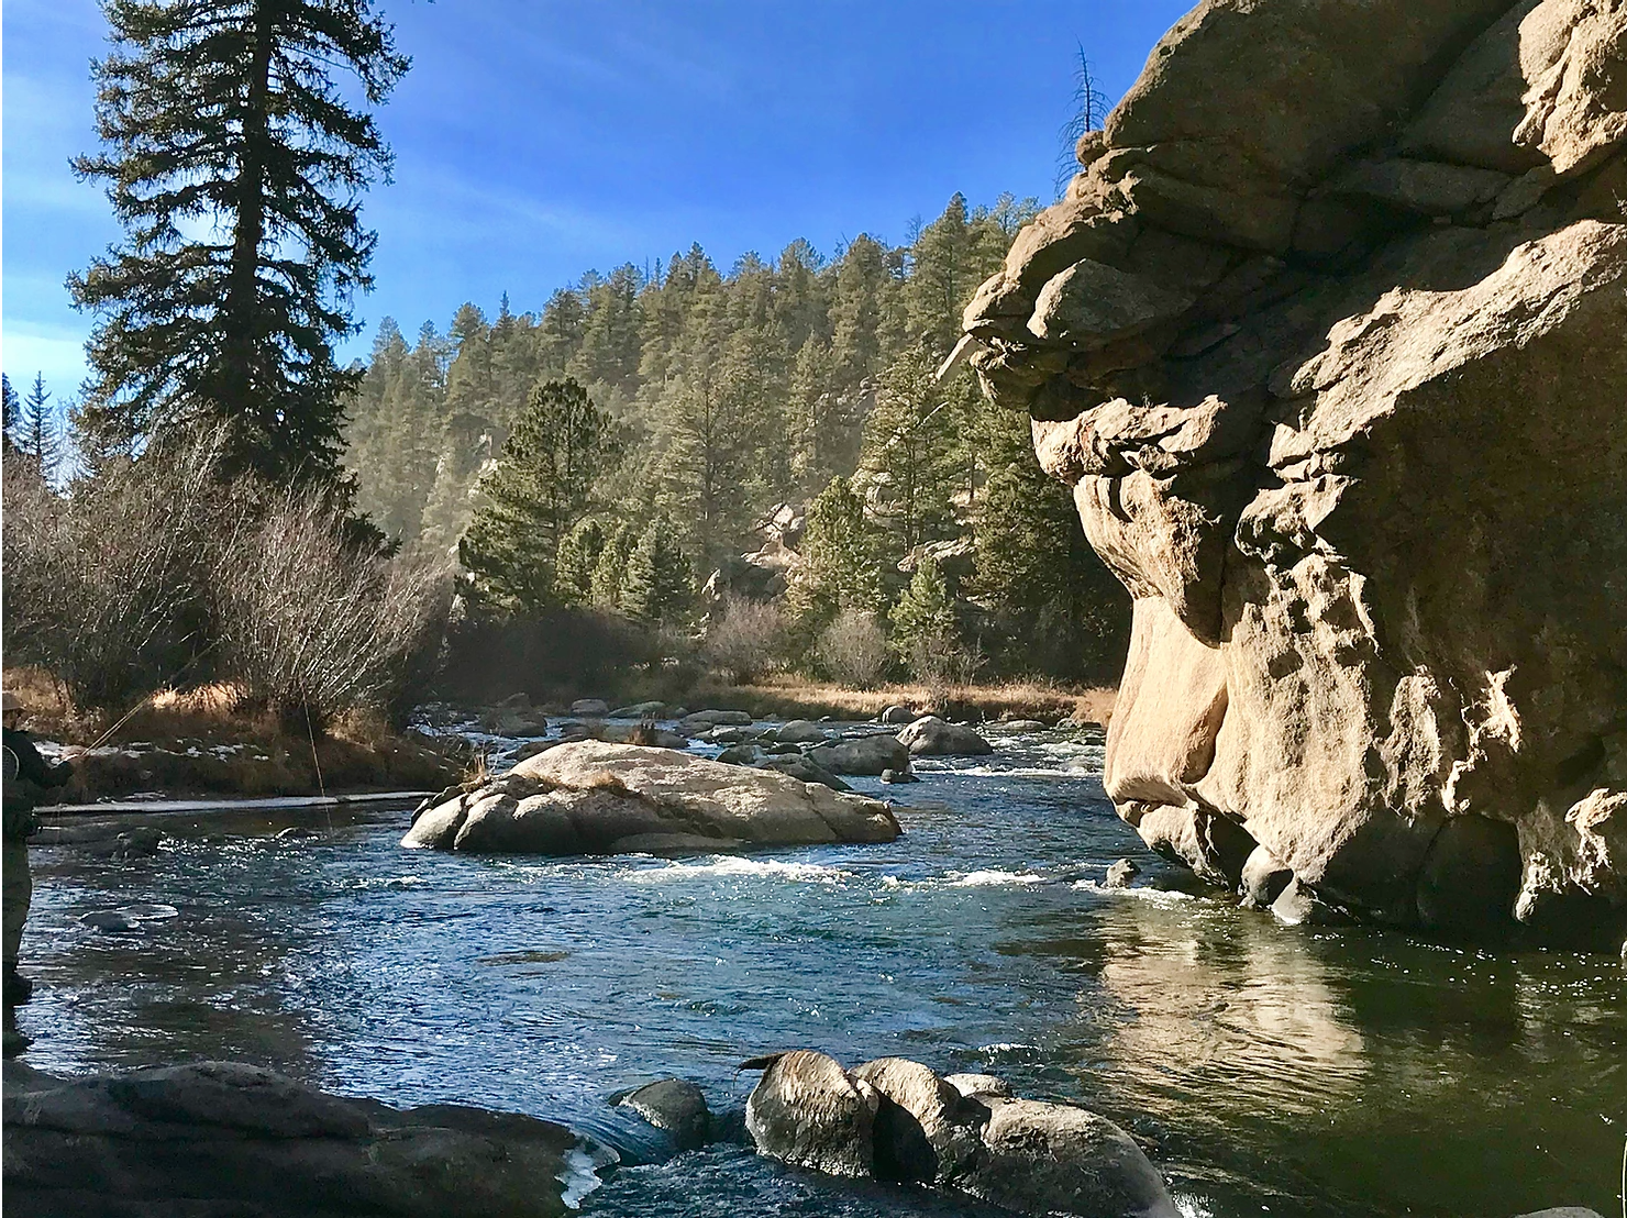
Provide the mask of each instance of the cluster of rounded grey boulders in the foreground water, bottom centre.
POLYGON ((953 1187, 1019 1213, 1176 1218, 1147 1156, 1106 1117, 1014 1099, 989 1075, 939 1078, 882 1057, 851 1073, 825 1054, 753 1059, 745 1107, 761 1155, 838 1176, 953 1187))

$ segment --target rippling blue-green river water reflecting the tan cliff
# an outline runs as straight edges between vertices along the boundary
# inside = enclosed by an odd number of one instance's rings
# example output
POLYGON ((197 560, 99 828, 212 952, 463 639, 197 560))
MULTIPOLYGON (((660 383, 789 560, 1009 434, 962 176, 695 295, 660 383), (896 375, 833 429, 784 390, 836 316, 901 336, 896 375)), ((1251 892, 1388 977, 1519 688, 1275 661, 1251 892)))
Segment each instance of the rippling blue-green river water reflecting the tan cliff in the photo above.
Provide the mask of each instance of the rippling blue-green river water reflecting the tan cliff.
MULTIPOLYGON (((26 1060, 255 1060, 395 1104, 547 1116, 636 1156, 605 1103, 623 1088, 691 1078, 737 1114, 753 1054, 896 1054, 1113 1117, 1188 1218, 1619 1213, 1620 964, 1103 890, 1124 855, 1141 881, 1173 877, 1113 815, 1100 743, 999 743, 916 785, 856 779, 895 800, 890 846, 456 857, 402 850, 394 808, 172 818, 130 862, 36 850, 26 1060), (294 823, 317 836, 273 836, 294 823), (130 932, 81 920, 133 904, 168 909, 130 932)), ((731 1143, 622 1168, 584 1210, 989 1213, 731 1143)))

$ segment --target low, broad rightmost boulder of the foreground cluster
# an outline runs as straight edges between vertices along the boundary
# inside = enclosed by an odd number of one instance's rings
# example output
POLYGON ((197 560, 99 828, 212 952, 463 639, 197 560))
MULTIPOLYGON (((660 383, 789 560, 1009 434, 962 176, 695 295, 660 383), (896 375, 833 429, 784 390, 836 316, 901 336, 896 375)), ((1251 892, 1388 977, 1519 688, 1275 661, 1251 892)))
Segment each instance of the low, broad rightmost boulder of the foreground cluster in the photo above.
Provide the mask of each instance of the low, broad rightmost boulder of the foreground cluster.
POLYGON ((1106 1117, 1069 1104, 1009 1099, 989 1111, 986 1156, 966 1192, 1022 1213, 1178 1218, 1158 1171, 1106 1117))

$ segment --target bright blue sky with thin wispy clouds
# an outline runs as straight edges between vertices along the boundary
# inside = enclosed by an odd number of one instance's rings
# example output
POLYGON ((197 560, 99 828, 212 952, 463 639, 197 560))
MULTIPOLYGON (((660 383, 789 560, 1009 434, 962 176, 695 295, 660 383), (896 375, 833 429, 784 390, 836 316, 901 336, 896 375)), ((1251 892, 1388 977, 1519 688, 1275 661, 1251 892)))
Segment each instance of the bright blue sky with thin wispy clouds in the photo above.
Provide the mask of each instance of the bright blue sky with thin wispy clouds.
MULTIPOLYGON (((1184 0, 439 0, 382 5, 413 68, 379 115, 377 288, 412 333, 517 311, 589 268, 698 241, 719 267, 796 237, 901 241, 960 190, 1049 202, 1077 47, 1118 98, 1184 0)), ((94 143, 94 0, 3 5, 3 361, 72 394, 91 319, 63 278, 116 241, 68 158, 94 143)))

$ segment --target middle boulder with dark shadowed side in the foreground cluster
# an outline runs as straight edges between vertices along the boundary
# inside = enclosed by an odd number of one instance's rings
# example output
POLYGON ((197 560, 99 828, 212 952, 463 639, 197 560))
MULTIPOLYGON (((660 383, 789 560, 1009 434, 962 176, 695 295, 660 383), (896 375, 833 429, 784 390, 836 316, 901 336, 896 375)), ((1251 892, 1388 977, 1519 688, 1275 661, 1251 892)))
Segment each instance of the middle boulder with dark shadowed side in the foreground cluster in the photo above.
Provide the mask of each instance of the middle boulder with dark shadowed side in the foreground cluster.
POLYGON ((983 1143, 960 1091, 903 1057, 866 1062, 853 1077, 880 1094, 874 1135, 879 1177, 949 1184, 971 1171, 983 1143))

